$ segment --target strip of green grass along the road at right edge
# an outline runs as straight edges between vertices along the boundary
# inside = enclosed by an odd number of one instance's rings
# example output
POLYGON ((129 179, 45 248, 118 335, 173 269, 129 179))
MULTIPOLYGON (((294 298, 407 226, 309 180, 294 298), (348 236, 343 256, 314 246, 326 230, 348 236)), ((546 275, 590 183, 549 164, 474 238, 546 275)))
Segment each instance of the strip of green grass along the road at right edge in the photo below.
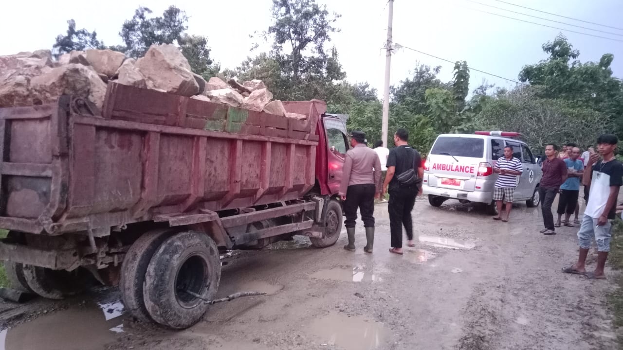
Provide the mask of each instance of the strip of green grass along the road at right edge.
MULTIPOLYGON (((623 221, 617 219, 612 227, 612 242, 608 262, 612 268, 623 270, 623 221)), ((609 300, 614 309, 614 324, 623 327, 623 277, 615 281, 619 288, 609 295, 609 300)), ((623 335, 619 335, 619 346, 623 349, 623 335)))

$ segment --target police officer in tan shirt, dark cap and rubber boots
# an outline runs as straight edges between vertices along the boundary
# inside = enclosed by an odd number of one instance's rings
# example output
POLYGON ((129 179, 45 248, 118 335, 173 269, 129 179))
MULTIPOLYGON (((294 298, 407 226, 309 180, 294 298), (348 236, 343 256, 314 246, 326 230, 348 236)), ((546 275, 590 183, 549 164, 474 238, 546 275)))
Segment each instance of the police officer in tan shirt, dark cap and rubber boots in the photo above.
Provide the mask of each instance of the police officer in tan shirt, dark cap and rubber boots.
POLYGON ((368 244, 364 252, 372 253, 374 245, 374 197, 381 194, 381 161, 373 149, 366 146, 366 135, 361 131, 353 131, 350 135, 351 149, 346 152, 340 197, 344 201, 346 234, 348 244, 346 250, 354 252, 354 227, 357 219, 357 208, 361 212, 361 220, 366 228, 368 244))

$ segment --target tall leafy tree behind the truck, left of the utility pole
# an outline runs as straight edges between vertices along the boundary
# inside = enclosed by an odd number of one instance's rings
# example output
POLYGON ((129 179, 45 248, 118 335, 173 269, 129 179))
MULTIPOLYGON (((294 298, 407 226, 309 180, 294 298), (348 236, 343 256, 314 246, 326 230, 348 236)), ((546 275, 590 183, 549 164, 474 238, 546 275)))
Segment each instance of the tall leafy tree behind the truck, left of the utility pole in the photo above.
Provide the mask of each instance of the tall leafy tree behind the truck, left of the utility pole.
POLYGON ((335 47, 326 50, 331 34, 339 31, 340 17, 330 14, 315 0, 273 0, 273 22, 262 34, 272 40, 268 54, 245 60, 238 78, 260 78, 267 82, 275 98, 330 102, 333 85, 346 77, 335 47))

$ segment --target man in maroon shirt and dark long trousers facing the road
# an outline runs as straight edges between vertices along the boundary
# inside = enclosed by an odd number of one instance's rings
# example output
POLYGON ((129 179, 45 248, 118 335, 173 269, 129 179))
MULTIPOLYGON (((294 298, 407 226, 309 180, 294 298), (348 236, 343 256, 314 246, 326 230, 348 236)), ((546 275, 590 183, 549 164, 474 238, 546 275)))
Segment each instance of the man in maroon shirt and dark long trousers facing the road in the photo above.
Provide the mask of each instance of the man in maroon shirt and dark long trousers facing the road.
POLYGON ((548 144, 545 146, 545 161, 543 161, 543 178, 539 184, 539 196, 541 197, 541 210, 543 212, 543 225, 545 229, 540 232, 544 235, 555 235, 554 215, 551 212, 551 204, 556 198, 560 186, 567 180, 567 164, 556 157, 558 146, 548 144))

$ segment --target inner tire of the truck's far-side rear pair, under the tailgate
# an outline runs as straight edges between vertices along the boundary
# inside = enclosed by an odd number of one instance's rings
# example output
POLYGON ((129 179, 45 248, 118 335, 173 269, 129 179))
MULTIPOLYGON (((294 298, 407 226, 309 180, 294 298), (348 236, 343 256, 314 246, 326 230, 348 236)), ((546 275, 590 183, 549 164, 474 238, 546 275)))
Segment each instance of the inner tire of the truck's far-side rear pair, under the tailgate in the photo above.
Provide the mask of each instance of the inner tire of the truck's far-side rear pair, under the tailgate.
POLYGON ((61 300, 84 290, 85 275, 80 270, 72 272, 24 265, 24 278, 34 293, 48 299, 61 300))

